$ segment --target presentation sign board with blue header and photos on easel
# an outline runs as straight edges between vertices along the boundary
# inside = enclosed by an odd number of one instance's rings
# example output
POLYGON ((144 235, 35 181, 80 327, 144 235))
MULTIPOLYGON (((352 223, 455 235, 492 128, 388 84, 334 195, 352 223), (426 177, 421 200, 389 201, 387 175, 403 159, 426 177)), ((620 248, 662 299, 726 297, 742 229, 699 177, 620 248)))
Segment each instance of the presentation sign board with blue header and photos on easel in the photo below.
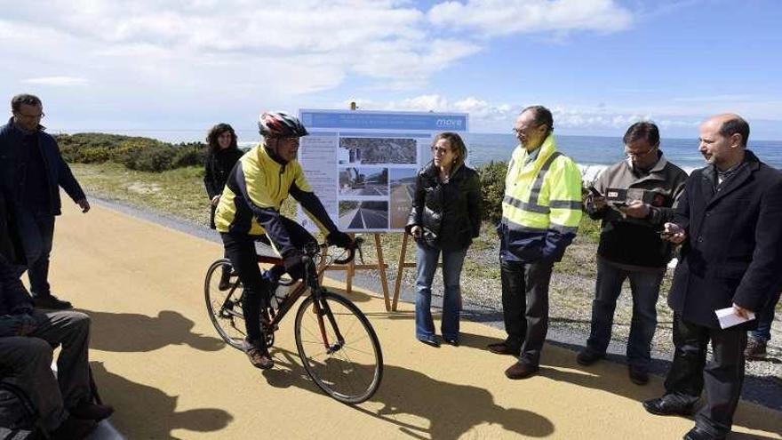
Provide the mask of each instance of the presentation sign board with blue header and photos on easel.
MULTIPOLYGON (((410 213, 416 172, 432 159, 440 132, 467 142, 467 114, 365 110, 299 110, 309 136, 299 163, 340 230, 401 231, 410 213)), ((299 212, 299 221, 314 225, 299 212)))

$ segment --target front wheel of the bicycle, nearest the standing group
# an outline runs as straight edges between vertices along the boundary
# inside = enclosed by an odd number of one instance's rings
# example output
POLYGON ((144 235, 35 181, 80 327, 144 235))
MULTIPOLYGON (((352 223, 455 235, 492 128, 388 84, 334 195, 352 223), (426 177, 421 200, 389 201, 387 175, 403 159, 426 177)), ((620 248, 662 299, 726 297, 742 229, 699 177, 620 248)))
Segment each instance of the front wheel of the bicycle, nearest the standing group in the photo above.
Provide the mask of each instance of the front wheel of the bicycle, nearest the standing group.
POLYGON ((307 297, 296 313, 296 348, 304 369, 329 396, 360 404, 380 386, 383 354, 362 311, 344 297, 307 297))

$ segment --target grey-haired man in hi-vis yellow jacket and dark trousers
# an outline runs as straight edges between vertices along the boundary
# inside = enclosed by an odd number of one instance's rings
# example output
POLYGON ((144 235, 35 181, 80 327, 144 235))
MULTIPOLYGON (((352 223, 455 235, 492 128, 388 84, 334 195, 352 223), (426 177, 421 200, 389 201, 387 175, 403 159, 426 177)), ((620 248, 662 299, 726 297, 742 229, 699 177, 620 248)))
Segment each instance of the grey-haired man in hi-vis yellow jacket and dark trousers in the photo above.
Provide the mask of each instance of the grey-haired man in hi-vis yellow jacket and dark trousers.
POLYGON ((551 111, 542 106, 524 108, 514 126, 519 146, 507 166, 497 227, 507 339, 489 346, 493 353, 519 356, 505 372, 509 379, 538 372, 551 271, 581 220, 581 172, 556 150, 553 131, 551 111))

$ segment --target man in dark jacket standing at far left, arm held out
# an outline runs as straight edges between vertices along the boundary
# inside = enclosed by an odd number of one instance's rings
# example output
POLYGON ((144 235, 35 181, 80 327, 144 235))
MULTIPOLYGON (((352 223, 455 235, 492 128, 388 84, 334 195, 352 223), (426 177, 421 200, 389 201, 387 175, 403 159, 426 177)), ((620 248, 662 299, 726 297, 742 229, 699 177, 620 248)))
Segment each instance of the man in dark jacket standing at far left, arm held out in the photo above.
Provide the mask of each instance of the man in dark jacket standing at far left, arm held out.
POLYGON ((16 212, 16 225, 28 261, 33 302, 38 308, 70 308, 52 295, 49 254, 54 218, 60 215, 60 187, 82 212, 90 210, 84 191, 60 156, 57 140, 40 124, 44 106, 34 95, 11 100, 13 116, 0 127, 0 179, 16 212))

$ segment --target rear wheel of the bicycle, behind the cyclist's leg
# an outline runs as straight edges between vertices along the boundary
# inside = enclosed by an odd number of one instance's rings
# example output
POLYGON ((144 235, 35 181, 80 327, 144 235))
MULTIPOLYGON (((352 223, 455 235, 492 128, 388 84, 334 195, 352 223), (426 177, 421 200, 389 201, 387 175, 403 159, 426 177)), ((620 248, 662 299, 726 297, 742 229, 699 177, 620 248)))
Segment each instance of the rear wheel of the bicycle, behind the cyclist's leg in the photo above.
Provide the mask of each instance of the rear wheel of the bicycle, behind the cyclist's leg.
POLYGON ((233 348, 243 349, 244 316, 242 311, 242 283, 235 274, 229 278, 227 289, 220 290, 219 282, 223 270, 232 273, 231 262, 227 259, 211 263, 206 271, 203 282, 203 294, 206 299, 206 309, 209 311, 211 324, 233 348))

